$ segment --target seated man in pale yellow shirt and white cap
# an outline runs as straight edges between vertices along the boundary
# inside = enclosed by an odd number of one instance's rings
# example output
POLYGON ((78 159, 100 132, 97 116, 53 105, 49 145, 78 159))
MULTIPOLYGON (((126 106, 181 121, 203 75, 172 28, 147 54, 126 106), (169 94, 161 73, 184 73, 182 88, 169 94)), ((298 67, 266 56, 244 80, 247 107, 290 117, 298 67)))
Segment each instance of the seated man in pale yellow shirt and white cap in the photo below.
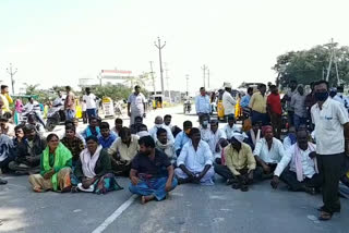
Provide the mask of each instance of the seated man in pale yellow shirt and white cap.
POLYGON ((231 143, 225 148, 226 165, 215 164, 215 172, 227 180, 227 185, 232 188, 249 191, 249 184, 253 181, 256 162, 251 147, 243 143, 241 133, 233 133, 231 143))

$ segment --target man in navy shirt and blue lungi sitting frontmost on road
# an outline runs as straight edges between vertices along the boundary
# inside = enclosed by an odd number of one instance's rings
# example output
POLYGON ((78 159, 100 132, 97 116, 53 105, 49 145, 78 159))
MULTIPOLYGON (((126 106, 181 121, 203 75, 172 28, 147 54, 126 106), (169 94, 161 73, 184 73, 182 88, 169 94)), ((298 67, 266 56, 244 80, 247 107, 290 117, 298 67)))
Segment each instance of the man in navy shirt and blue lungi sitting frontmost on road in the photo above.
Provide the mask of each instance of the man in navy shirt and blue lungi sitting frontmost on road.
POLYGON ((140 152, 132 161, 130 192, 141 196, 142 204, 163 200, 177 186, 168 157, 155 148, 151 136, 140 139, 140 152))

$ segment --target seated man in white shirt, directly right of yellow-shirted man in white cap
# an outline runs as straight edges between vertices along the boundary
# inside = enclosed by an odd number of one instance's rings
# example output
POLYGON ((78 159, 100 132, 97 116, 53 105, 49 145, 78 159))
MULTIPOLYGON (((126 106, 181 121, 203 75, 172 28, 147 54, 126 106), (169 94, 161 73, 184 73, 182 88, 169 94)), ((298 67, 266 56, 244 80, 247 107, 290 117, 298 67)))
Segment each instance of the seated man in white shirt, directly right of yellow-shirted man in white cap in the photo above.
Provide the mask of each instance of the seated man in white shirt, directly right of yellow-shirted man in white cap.
POLYGON ((272 179, 277 163, 285 155, 285 150, 282 143, 274 137, 270 125, 263 126, 262 133, 264 138, 256 143, 253 155, 257 165, 263 168, 263 174, 260 179, 272 179))

